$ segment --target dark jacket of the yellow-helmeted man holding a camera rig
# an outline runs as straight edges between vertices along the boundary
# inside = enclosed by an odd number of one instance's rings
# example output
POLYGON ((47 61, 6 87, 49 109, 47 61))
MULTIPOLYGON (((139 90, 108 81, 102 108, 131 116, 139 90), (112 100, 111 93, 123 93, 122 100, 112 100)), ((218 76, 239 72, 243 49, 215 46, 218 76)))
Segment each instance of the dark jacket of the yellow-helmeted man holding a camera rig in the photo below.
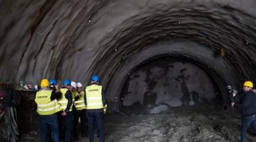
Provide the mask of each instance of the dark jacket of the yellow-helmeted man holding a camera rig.
POLYGON ((241 109, 242 117, 253 116, 256 114, 256 94, 252 90, 245 92, 240 102, 234 106, 241 109))

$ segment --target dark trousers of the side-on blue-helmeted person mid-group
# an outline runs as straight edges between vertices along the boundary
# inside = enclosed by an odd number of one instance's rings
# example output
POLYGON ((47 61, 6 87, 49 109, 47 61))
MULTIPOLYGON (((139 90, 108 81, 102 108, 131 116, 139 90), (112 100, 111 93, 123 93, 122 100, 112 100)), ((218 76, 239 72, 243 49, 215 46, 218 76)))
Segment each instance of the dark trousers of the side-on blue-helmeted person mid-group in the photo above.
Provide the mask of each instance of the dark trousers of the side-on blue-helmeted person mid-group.
POLYGON ((74 116, 72 112, 68 112, 66 116, 59 113, 59 130, 60 138, 64 138, 65 142, 71 141, 74 116))

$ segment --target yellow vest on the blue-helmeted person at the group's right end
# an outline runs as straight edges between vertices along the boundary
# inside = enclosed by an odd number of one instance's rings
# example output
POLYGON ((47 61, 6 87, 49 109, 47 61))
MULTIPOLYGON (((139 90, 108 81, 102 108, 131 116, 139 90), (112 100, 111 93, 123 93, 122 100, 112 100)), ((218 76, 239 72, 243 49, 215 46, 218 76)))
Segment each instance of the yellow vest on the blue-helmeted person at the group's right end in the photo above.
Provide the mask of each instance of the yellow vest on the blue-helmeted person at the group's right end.
POLYGON ((102 101, 102 86, 92 84, 87 86, 85 89, 86 92, 86 109, 103 109, 102 101))

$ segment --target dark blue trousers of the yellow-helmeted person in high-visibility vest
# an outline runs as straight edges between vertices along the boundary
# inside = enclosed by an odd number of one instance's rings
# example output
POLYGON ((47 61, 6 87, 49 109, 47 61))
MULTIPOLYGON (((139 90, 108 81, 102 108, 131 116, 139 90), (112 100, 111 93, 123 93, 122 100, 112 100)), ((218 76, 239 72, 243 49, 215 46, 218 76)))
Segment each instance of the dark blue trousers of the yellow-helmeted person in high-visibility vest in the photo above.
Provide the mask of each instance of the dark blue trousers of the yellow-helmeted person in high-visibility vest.
POLYGON ((53 132, 53 141, 59 142, 59 125, 57 114, 39 116, 41 141, 51 141, 51 131, 53 132))

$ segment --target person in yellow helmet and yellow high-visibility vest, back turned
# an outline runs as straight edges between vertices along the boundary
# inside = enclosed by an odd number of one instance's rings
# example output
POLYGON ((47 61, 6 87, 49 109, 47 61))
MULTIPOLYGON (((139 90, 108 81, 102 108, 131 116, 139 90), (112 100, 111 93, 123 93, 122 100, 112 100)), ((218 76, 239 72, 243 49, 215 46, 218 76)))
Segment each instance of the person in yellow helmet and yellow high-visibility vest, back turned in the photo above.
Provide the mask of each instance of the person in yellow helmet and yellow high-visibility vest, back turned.
POLYGON ((35 102, 37 104, 37 113, 39 114, 41 141, 51 140, 51 131, 53 133, 53 141, 59 142, 59 126, 57 112, 60 106, 56 99, 62 94, 59 92, 58 85, 54 85, 56 91, 49 89, 49 80, 41 80, 41 89, 36 93, 35 102))

